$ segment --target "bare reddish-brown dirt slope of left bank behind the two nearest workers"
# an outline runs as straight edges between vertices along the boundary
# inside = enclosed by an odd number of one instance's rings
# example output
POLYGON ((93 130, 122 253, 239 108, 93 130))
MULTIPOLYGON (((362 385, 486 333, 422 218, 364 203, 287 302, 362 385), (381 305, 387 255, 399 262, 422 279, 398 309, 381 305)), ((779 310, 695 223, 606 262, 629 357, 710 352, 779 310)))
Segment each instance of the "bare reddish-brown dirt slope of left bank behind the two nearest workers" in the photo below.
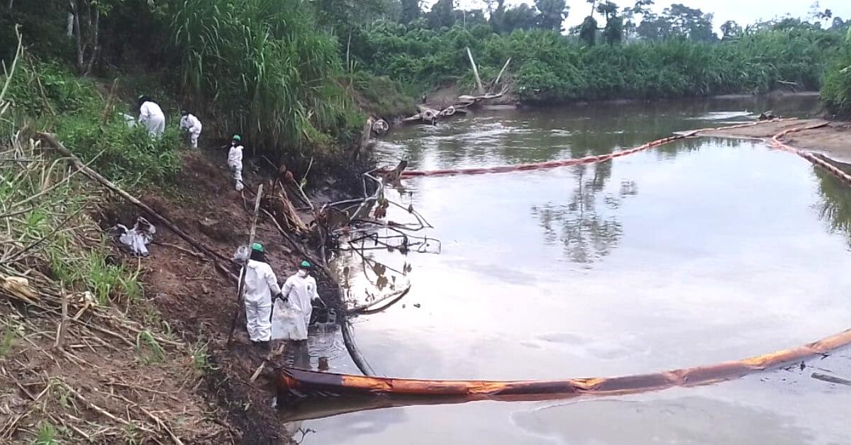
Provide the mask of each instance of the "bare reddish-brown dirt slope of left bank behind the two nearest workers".
MULTIPOLYGON (((248 184, 257 184, 246 177, 248 184)), ((148 194, 142 200, 158 213, 180 226, 191 237, 228 258, 238 246, 248 242, 253 198, 233 190, 230 174, 223 166, 194 153, 185 159, 180 174, 180 190, 174 196, 148 194)), ((115 217, 126 220, 138 211, 117 208, 115 217)), ((271 222, 260 216, 256 241, 268 251, 278 281, 294 273, 300 257, 294 254, 271 222)), ((280 425, 272 391, 271 367, 254 383, 249 379, 263 362, 260 351, 248 341, 244 322, 237 323, 231 348, 226 345, 231 320, 237 311, 237 286, 216 271, 214 265, 165 227, 157 227, 151 255, 142 260, 146 294, 153 295, 163 318, 175 331, 192 342, 208 342, 212 371, 205 379, 228 419, 241 436, 242 443, 289 443, 288 433, 280 425)), ((238 271, 233 270, 236 275, 238 271)), ((320 292, 323 285, 320 282, 320 292)))

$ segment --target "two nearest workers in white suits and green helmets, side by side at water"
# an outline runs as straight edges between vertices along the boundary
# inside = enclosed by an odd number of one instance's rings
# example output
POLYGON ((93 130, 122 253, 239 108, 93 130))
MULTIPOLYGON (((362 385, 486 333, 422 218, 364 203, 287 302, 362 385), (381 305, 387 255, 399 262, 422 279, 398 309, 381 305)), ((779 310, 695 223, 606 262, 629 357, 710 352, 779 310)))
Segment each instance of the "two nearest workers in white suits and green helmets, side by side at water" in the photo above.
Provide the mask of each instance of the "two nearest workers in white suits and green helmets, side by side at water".
POLYGON ((254 345, 267 350, 271 339, 307 339, 313 302, 324 305, 316 278, 310 275, 311 267, 309 261, 302 261, 299 270, 287 278, 282 288, 266 258, 266 250, 257 242, 251 246, 244 286, 246 328, 254 345), (273 319, 277 323, 274 337, 273 319))

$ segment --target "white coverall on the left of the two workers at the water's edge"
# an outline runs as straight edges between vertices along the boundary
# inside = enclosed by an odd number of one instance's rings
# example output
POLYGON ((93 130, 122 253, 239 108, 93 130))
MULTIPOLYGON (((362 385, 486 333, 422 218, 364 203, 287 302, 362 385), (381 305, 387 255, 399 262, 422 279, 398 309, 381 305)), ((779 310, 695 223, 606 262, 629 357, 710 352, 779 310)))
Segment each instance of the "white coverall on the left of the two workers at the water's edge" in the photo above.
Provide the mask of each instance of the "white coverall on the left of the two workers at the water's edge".
POLYGON ((271 296, 281 292, 271 265, 248 260, 245 271, 245 318, 251 341, 271 339, 271 296))

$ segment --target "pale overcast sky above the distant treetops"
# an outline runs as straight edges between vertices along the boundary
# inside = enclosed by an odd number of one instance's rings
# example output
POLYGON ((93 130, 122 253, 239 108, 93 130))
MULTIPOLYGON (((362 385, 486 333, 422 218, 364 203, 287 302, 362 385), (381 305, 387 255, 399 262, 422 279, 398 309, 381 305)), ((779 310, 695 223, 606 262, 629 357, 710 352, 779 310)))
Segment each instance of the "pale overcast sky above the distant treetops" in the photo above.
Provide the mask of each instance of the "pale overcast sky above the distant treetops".
MULTIPOLYGON (((431 9, 431 4, 436 0, 426 0, 425 9, 431 9)), ((505 0, 506 4, 528 3, 534 4, 534 0, 505 0)), ((620 7, 632 6, 635 0, 614 0, 620 7)), ((727 20, 735 20, 740 25, 753 23, 757 20, 773 19, 776 16, 791 14, 793 17, 805 17, 809 13, 811 0, 680 0, 668 2, 657 0, 655 9, 661 12, 671 3, 683 3, 689 8, 697 8, 706 13, 715 14, 714 24, 720 26, 727 20)), ((483 0, 458 0, 458 5, 463 9, 485 8, 483 0)), ((820 0, 820 9, 831 9, 834 16, 842 17, 843 20, 851 19, 851 0, 820 0)), ((570 14, 564 26, 579 25, 591 10, 591 5, 585 0, 568 0, 570 14)))

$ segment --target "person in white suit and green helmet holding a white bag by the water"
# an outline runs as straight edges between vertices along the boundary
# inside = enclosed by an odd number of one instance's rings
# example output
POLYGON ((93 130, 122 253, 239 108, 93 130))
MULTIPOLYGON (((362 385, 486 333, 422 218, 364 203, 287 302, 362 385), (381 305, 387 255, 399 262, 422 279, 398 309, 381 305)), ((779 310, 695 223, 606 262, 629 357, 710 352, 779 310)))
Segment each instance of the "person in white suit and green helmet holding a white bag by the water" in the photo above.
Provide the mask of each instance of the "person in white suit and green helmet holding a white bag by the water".
MULTIPOLYGON (((307 339, 307 326, 311 323, 311 313, 313 312, 313 301, 317 301, 321 305, 325 305, 323 300, 319 298, 317 292, 317 280, 311 277, 310 261, 302 261, 299 265, 299 271, 295 275, 288 277, 283 283, 283 304, 276 302, 275 317, 276 320, 281 320, 283 329, 273 329, 282 331, 283 335, 278 334, 274 337, 293 340, 307 339), (284 318, 282 318, 284 317, 284 318)), ((277 334, 277 333, 275 333, 277 334)))

